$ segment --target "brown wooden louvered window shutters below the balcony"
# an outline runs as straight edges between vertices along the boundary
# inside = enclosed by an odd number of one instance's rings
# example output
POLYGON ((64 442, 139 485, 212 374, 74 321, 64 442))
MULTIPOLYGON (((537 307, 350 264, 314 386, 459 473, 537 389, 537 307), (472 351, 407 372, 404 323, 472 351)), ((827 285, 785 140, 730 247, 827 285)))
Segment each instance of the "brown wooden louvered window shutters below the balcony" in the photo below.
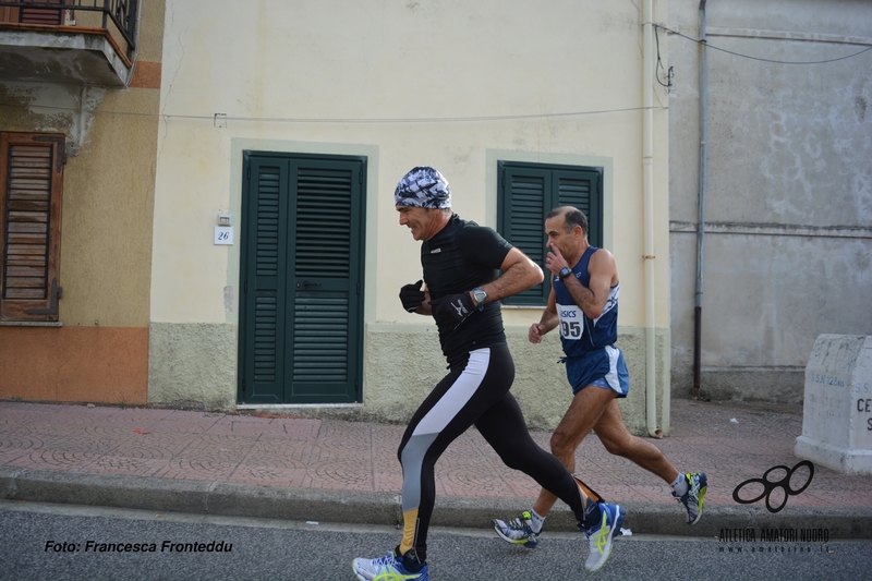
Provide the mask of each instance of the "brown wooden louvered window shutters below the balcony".
POLYGON ((0 319, 58 320, 64 137, 0 136, 0 319))

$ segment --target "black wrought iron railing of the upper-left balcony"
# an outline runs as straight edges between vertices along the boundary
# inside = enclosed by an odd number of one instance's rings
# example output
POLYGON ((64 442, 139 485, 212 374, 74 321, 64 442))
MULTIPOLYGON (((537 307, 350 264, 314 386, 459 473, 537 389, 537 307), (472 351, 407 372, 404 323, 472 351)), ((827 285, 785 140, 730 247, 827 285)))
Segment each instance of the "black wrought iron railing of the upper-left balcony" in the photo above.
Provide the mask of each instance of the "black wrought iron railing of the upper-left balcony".
POLYGON ((132 58, 136 51, 138 3, 140 0, 0 0, 0 24, 105 28, 112 37, 117 33, 123 39, 126 56, 132 58))

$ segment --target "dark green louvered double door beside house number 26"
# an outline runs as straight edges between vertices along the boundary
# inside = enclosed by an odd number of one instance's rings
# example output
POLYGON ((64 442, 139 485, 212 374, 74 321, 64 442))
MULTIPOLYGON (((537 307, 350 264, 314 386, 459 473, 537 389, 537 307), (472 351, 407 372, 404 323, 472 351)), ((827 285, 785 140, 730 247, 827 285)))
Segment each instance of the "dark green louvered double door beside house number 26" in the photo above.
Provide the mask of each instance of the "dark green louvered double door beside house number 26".
POLYGON ((240 402, 361 401, 365 160, 244 154, 240 402))

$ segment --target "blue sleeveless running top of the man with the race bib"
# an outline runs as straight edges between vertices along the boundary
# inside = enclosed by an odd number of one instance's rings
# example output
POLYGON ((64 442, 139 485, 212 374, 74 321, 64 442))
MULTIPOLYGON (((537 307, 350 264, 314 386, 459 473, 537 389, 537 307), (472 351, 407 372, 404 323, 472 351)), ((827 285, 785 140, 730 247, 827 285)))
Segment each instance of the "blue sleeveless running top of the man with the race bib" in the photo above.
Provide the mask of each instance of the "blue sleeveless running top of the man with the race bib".
MULTIPOLYGON (((590 287, 591 275, 588 273, 588 265, 591 256, 596 252, 596 246, 590 246, 581 259, 572 268, 572 276, 590 287)), ((557 316, 560 319, 560 341, 564 343, 564 352, 568 358, 578 358, 590 351, 602 349, 613 344, 618 340, 618 294, 620 294, 620 283, 615 285, 608 291, 608 299, 603 313, 591 318, 584 314, 572 295, 567 290, 566 285, 555 275, 554 295, 557 302, 557 316)))

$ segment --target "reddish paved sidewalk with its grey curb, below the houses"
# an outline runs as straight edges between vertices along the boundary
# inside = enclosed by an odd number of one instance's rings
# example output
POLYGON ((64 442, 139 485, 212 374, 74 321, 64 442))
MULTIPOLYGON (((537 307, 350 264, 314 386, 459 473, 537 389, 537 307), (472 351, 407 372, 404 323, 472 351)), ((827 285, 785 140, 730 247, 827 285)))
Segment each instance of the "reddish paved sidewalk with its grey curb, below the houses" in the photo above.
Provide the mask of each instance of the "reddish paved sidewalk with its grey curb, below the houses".
MULTIPOLYGON (((577 474, 627 506, 634 534, 717 536, 746 528, 826 529, 831 540, 872 538, 872 477, 816 465, 809 487, 771 513, 739 505, 734 488, 772 467, 792 468, 802 407, 674 400, 673 434, 651 439, 679 471, 708 475, 694 526, 669 487, 585 438, 577 474)), ((292 416, 0 402, 0 497, 291 520, 401 522, 397 460, 404 426, 292 416)), ((544 448, 549 434, 534 432, 544 448)), ((778 471, 772 480, 784 477, 778 471)), ((804 476, 791 483, 800 487, 804 476)), ((532 506, 538 488, 507 469, 470 431, 436 465, 433 524, 489 526, 532 506)), ((758 488, 760 491, 760 488, 758 488)), ((750 492, 750 489, 749 489, 750 492)), ((759 494, 759 492, 758 492, 759 494)), ((748 496, 748 495, 743 495, 748 496)), ((784 498, 780 491, 772 504, 784 498)), ((550 530, 574 530, 558 504, 550 530)))

